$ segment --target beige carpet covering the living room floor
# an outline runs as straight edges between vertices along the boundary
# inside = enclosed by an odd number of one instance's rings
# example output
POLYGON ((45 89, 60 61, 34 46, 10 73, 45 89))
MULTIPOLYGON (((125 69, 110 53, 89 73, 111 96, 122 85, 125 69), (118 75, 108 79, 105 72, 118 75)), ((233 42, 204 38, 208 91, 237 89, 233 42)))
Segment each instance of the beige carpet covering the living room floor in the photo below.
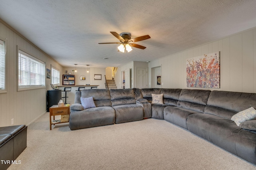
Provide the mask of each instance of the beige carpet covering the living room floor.
POLYGON ((27 148, 8 170, 255 170, 167 121, 144 119, 71 131, 49 127, 49 112, 28 126, 27 148))

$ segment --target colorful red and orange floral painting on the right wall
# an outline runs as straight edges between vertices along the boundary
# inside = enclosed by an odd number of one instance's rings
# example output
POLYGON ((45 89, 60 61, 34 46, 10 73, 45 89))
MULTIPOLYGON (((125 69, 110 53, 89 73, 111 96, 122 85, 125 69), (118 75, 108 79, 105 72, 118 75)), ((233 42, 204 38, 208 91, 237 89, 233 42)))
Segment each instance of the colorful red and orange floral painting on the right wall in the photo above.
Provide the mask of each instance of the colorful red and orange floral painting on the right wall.
POLYGON ((220 53, 187 59, 187 87, 220 88, 220 53))

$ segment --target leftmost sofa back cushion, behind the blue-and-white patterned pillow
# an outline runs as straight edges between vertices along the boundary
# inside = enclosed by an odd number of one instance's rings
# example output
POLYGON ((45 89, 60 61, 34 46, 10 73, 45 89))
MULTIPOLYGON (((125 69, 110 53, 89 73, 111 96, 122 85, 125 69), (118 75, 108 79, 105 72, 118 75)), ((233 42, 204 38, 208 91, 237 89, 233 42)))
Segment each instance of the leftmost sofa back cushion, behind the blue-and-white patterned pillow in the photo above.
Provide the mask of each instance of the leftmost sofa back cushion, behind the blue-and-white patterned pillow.
MULTIPOLYGON (((108 89, 86 89, 81 91, 82 98, 93 97, 96 107, 111 106, 110 93, 108 89)), ((81 101, 80 101, 81 103, 81 101)))

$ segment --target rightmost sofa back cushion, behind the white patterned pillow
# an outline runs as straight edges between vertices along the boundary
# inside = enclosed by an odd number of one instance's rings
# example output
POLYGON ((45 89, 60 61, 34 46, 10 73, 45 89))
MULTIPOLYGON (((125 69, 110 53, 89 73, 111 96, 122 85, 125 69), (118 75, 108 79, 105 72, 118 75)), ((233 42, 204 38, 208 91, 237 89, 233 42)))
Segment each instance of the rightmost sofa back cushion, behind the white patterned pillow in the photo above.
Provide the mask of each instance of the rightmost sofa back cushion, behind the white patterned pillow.
POLYGON ((208 98, 204 113, 231 119, 234 114, 250 107, 256 109, 256 93, 214 90, 208 98))

